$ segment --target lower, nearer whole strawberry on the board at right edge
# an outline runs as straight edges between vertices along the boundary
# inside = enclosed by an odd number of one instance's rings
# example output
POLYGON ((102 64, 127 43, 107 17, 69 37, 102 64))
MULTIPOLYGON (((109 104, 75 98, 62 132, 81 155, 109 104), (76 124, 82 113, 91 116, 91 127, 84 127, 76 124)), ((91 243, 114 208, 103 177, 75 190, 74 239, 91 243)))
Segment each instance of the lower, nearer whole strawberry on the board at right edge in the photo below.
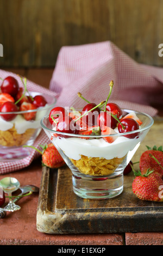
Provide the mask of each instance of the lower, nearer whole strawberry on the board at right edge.
POLYGON ((139 199, 156 202, 163 200, 161 195, 163 181, 159 173, 148 169, 144 175, 141 174, 140 170, 135 174, 132 190, 139 199))

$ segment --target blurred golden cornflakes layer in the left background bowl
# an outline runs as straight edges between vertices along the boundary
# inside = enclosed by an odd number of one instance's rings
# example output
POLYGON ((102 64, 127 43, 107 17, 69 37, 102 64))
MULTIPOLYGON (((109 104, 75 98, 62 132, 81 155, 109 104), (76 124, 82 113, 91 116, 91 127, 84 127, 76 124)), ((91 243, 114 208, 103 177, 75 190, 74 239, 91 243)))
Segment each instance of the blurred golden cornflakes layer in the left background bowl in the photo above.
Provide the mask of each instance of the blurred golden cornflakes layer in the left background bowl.
POLYGON ((35 129, 27 129, 26 132, 17 133, 15 126, 7 131, 0 130, 0 145, 4 147, 18 147, 26 144, 33 136, 35 129))

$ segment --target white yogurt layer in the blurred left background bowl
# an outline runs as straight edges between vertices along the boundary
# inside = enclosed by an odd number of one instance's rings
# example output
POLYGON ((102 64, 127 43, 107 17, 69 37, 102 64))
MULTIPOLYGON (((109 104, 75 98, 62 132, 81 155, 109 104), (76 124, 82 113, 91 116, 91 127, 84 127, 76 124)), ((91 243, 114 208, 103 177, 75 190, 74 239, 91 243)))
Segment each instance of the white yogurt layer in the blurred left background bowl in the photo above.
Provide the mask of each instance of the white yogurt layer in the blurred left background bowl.
POLYGON ((18 134, 26 132, 27 129, 38 129, 40 120, 46 114, 46 111, 37 111, 35 120, 27 121, 22 114, 17 114, 12 121, 5 121, 0 117, 0 130, 7 131, 15 125, 18 134))

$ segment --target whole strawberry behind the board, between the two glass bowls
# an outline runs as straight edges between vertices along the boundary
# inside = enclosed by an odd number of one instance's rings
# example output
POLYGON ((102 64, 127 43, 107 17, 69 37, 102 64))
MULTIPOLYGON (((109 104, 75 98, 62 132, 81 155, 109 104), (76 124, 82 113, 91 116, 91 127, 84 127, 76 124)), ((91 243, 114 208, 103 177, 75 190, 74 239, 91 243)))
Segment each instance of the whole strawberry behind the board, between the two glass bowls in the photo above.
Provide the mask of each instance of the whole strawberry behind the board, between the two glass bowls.
POLYGON ((43 148, 42 164, 49 168, 59 168, 65 165, 65 161, 52 143, 43 148))

